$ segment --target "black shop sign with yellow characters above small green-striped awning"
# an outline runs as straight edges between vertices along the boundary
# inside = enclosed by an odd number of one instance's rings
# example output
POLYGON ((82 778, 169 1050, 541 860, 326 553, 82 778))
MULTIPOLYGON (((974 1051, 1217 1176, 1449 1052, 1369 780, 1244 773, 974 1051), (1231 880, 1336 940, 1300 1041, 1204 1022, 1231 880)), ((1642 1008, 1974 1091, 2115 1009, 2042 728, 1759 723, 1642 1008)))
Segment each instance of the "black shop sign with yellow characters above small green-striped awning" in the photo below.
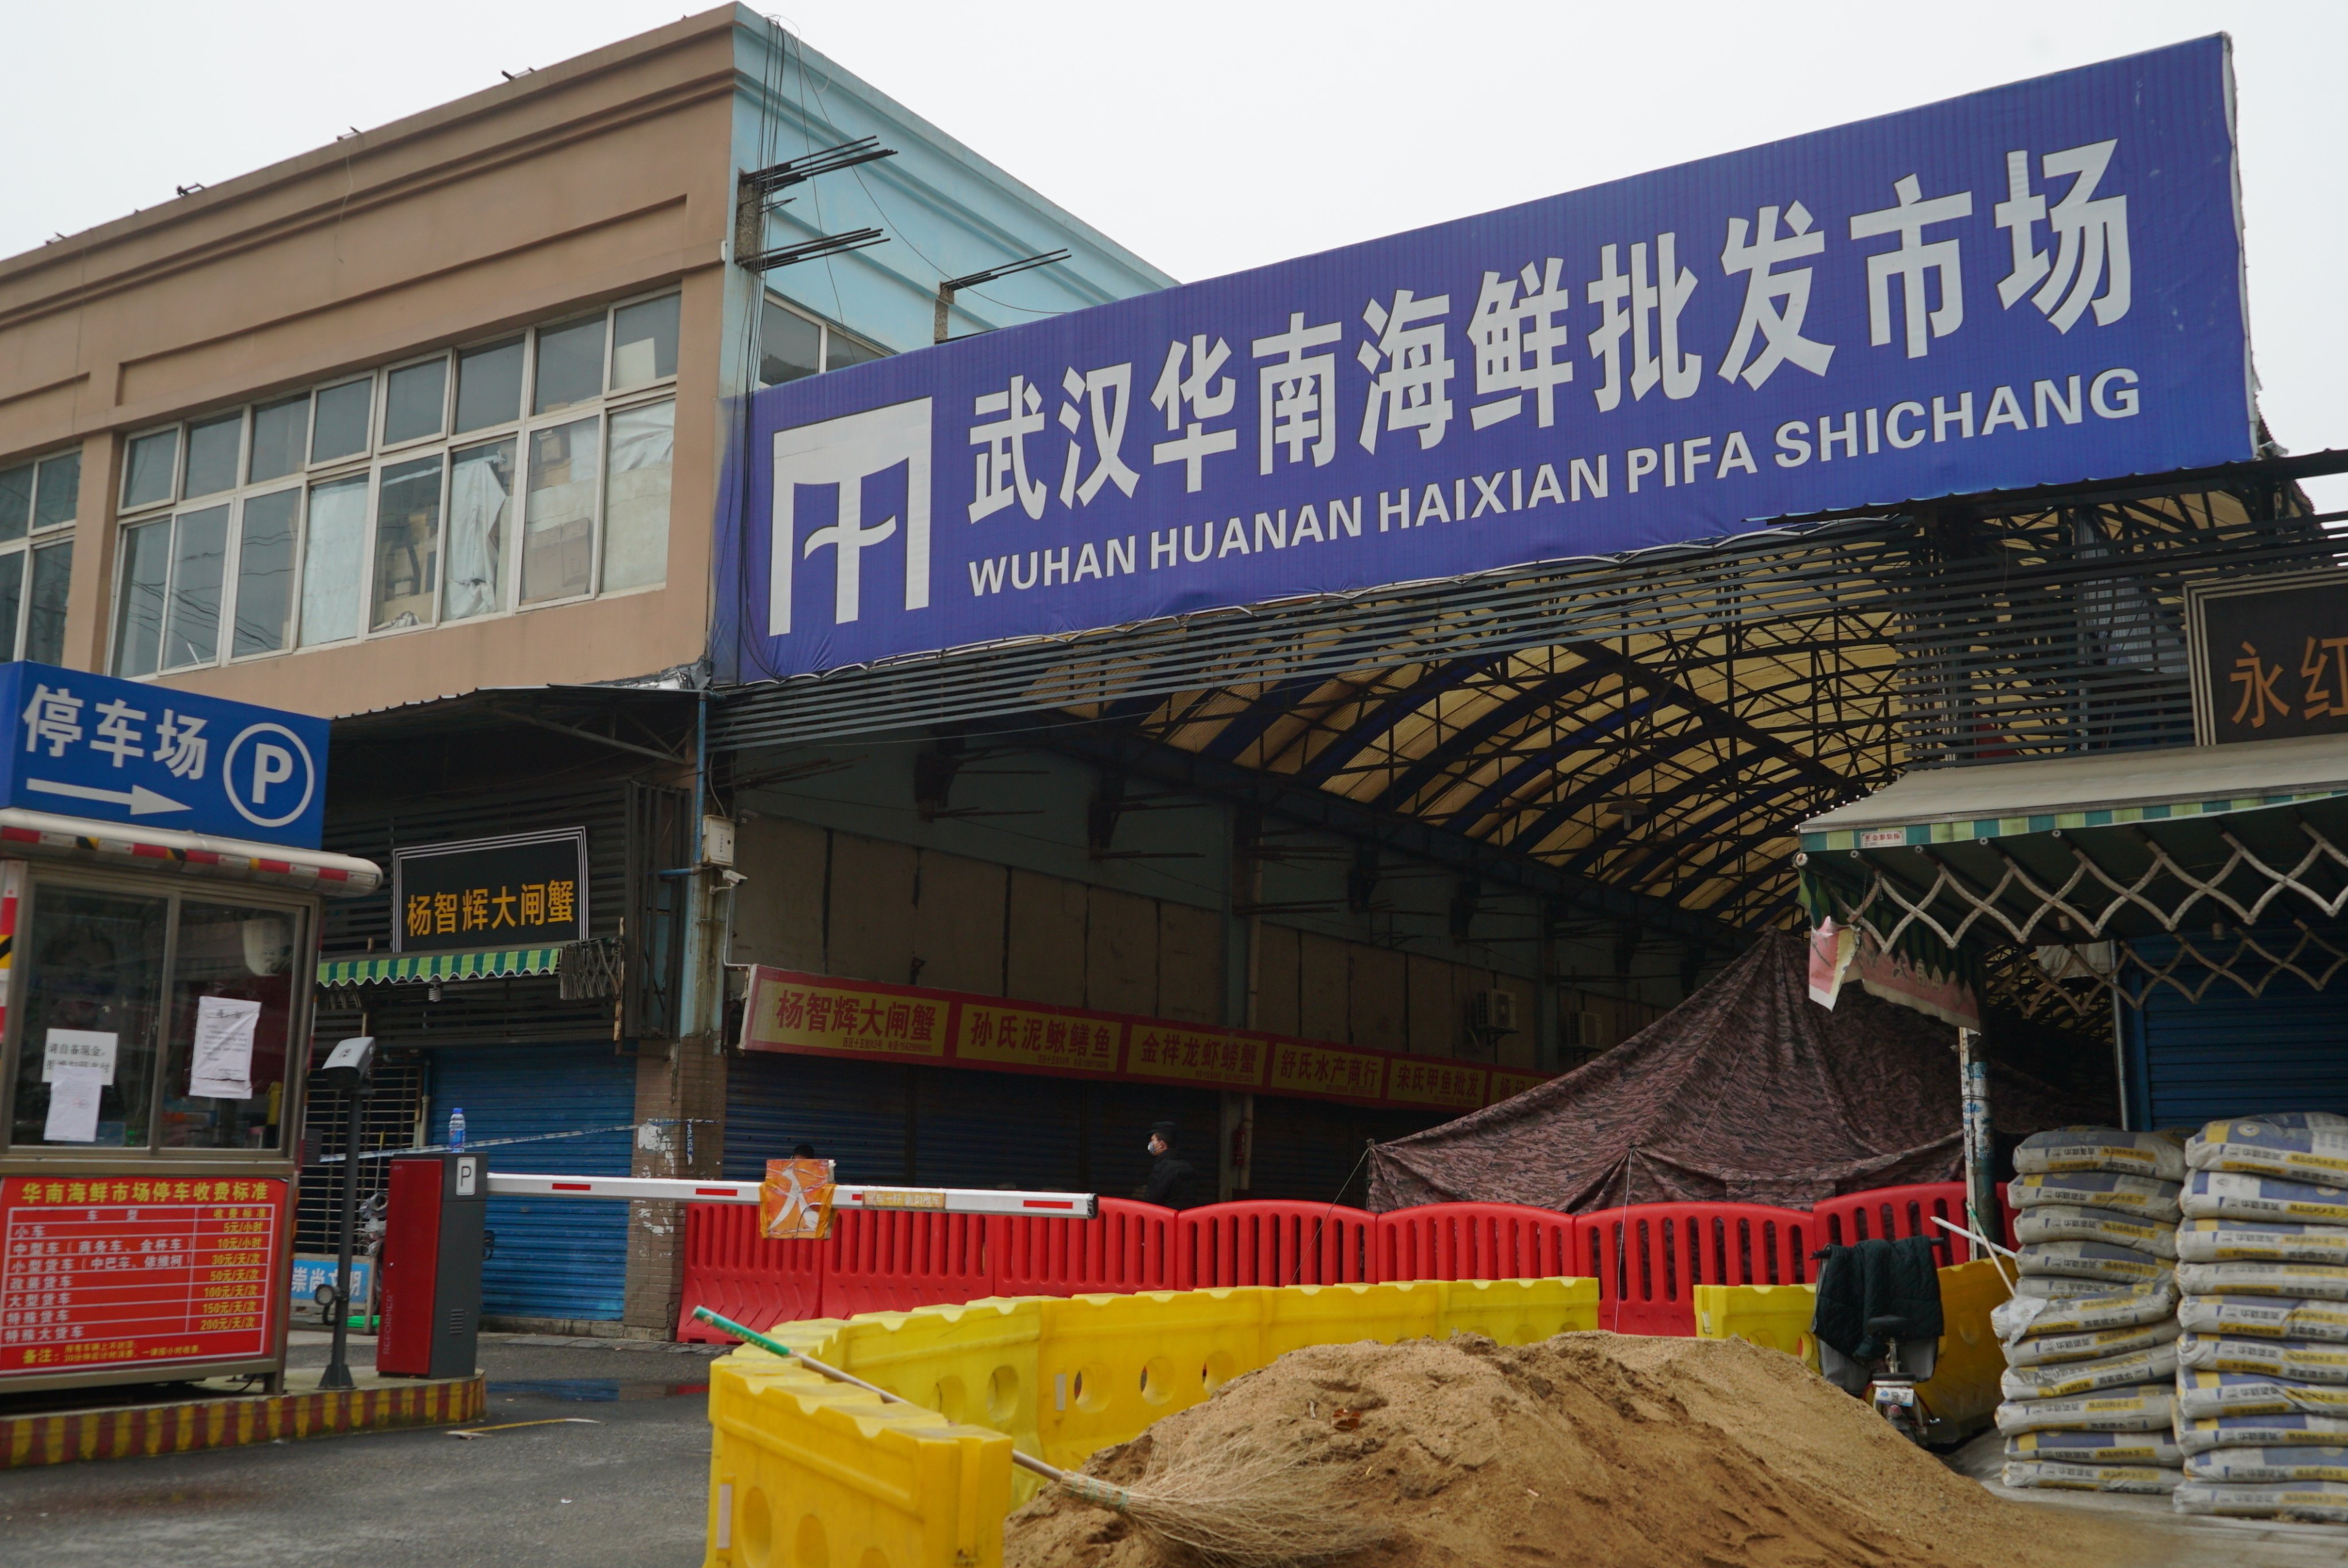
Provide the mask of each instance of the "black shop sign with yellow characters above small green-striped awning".
POLYGON ((587 829, 392 850, 392 951, 549 948, 587 937, 587 829))

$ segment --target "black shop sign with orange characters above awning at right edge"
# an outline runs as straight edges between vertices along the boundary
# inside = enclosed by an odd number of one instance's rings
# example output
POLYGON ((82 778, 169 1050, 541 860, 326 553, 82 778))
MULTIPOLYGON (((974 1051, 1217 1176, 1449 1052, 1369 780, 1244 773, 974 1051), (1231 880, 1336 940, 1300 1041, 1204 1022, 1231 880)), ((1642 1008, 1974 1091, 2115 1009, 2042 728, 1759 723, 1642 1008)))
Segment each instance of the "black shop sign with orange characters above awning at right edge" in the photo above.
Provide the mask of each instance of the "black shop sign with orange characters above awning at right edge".
POLYGON ((2193 739, 2348 735, 2348 573, 2193 587, 2193 739))

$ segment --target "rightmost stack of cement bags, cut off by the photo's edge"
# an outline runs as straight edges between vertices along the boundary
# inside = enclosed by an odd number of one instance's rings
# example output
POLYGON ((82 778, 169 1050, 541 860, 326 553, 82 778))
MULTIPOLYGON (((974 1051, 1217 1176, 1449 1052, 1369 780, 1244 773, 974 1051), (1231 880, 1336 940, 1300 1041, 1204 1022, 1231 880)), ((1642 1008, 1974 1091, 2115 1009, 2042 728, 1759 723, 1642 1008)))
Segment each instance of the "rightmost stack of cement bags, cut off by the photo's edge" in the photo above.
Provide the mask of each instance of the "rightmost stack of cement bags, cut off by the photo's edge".
POLYGON ((2177 1509, 2348 1521, 2348 1117, 2209 1122, 2186 1164, 2177 1509))

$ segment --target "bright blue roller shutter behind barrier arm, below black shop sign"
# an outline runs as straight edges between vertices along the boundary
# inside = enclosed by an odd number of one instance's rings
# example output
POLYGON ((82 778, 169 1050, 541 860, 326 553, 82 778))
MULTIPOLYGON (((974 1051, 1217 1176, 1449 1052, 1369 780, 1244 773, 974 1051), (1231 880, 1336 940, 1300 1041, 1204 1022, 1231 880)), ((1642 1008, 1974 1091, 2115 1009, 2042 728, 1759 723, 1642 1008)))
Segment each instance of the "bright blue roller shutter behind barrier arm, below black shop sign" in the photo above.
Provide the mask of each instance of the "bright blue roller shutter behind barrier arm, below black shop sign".
MULTIPOLYGON (((582 1138, 491 1145, 493 1171, 627 1176, 636 1120, 636 1059, 610 1042, 446 1049, 432 1061, 434 1138, 465 1110, 465 1143, 594 1131, 582 1138)), ((618 1319, 627 1293, 627 1204, 488 1199, 498 1251, 481 1270, 491 1317, 618 1319)))

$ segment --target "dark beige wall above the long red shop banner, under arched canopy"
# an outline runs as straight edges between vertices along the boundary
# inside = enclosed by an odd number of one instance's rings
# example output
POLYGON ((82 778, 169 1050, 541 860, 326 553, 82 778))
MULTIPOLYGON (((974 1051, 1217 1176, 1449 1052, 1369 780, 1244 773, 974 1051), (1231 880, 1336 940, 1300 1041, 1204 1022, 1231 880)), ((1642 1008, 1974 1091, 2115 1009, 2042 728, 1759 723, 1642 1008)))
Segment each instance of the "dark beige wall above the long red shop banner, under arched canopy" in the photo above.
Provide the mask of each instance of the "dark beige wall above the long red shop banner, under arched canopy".
POLYGON ((1251 1016, 1308 1040, 1533 1068, 1620 1045, 1681 998, 1679 974, 1655 969, 1667 953, 1608 976, 1608 939, 1543 944, 1526 894, 1479 894, 1463 934, 1458 878, 1432 866, 1390 861, 1369 908, 1348 908, 1352 845, 1338 838, 1275 824, 1261 864, 1235 866, 1233 817, 1205 798, 1129 784, 1125 800, 1148 810, 1122 815, 1097 857, 1099 772, 1047 737, 965 742, 925 815, 913 775, 935 744, 911 732, 733 758, 749 876, 733 962, 1205 1023, 1251 1016), (1249 906, 1263 913, 1249 920, 1249 906), (1475 991, 1514 993, 1522 1028, 1477 1042, 1475 991))

